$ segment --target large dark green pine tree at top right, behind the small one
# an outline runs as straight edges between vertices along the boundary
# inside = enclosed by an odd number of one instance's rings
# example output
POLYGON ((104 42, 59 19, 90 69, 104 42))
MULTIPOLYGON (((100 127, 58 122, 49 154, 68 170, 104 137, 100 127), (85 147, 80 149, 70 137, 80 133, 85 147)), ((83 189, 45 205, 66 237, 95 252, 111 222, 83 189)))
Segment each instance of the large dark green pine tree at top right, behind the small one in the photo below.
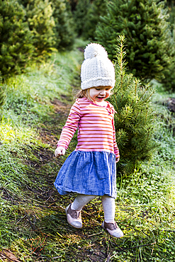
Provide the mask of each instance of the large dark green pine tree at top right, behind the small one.
POLYGON ((159 0, 112 0, 96 29, 96 39, 111 59, 116 38, 125 35, 129 70, 140 79, 162 79, 171 64, 174 43, 164 4, 159 0))

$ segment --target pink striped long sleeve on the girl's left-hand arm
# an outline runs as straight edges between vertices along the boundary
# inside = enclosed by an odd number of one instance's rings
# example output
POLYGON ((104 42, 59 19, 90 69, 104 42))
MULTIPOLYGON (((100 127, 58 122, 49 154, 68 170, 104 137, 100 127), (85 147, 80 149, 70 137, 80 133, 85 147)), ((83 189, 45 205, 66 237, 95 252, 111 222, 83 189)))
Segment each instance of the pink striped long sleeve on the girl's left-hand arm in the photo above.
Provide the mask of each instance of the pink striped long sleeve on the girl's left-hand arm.
POLYGON ((76 101, 70 110, 66 124, 62 128, 62 133, 60 135, 59 141, 57 142, 57 147, 64 147, 65 149, 68 148, 69 142, 71 141, 74 132, 77 130, 79 125, 80 116, 81 113, 79 109, 79 103, 76 101))

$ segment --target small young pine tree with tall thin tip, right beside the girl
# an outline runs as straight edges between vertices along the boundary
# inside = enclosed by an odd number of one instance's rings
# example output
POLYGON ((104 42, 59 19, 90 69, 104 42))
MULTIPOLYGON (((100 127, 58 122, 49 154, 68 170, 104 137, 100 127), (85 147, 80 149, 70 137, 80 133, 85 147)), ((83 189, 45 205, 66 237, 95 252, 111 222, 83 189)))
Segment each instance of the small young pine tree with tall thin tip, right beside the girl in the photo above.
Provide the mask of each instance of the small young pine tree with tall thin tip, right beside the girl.
POLYGON ((116 142, 120 150, 118 171, 129 175, 142 161, 152 158, 154 143, 154 112, 150 99, 154 91, 126 73, 125 37, 119 36, 116 47, 115 88, 108 98, 115 113, 116 142))

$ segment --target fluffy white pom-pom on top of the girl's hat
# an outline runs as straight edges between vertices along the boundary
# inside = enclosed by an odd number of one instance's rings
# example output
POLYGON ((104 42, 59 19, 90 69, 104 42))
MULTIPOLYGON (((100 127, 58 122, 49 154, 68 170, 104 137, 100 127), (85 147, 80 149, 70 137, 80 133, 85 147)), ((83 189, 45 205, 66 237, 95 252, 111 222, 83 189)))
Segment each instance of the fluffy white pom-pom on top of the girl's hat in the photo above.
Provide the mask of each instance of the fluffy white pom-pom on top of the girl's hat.
POLYGON ((91 43, 86 46, 84 50, 84 58, 89 59, 96 56, 106 57, 108 58, 108 53, 106 52, 105 48, 102 45, 91 43))

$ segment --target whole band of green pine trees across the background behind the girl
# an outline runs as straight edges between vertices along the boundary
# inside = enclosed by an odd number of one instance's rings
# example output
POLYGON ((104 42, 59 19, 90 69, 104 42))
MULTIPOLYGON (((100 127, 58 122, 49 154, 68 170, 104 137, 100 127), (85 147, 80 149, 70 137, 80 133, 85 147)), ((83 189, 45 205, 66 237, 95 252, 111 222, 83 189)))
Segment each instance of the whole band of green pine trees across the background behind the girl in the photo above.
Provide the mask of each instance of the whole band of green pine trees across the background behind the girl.
POLYGON ((115 59, 116 38, 125 35, 129 72, 174 91, 174 1, 13 1, 0 2, 3 79, 24 72, 35 59, 47 59, 55 49, 71 50, 77 35, 101 43, 115 59))

